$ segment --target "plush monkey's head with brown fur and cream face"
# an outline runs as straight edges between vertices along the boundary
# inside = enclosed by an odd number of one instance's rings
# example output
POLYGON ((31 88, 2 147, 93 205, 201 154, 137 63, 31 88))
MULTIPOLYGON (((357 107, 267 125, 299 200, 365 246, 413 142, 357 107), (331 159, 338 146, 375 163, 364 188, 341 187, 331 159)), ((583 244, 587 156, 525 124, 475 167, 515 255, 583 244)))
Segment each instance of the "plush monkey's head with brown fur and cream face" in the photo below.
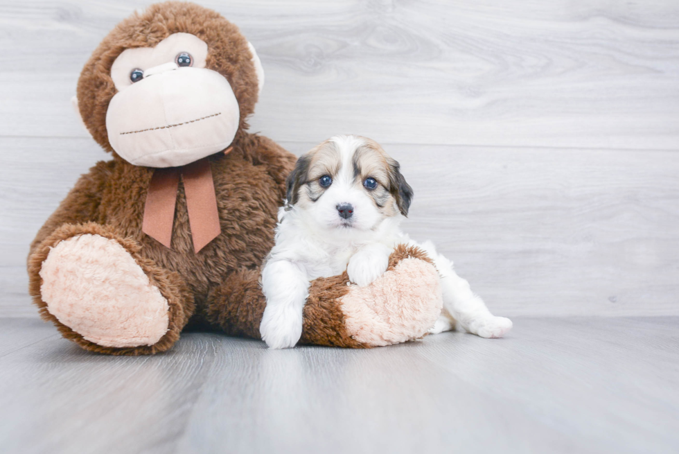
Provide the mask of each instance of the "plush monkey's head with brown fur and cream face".
POLYGON ((220 152, 254 112, 264 82, 252 45, 213 10, 170 1, 122 21, 78 80, 94 139, 138 166, 170 167, 220 152))

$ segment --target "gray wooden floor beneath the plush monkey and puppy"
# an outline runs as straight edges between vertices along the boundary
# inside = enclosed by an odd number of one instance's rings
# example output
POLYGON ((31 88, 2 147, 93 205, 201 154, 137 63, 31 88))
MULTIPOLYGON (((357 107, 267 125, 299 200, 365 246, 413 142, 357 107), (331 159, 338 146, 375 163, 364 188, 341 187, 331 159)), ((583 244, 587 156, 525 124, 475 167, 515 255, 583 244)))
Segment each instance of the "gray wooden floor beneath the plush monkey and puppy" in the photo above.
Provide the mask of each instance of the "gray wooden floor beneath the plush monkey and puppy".
POLYGON ((679 317, 514 322, 369 351, 187 333, 112 358, 0 319, 0 451, 679 451, 679 317))

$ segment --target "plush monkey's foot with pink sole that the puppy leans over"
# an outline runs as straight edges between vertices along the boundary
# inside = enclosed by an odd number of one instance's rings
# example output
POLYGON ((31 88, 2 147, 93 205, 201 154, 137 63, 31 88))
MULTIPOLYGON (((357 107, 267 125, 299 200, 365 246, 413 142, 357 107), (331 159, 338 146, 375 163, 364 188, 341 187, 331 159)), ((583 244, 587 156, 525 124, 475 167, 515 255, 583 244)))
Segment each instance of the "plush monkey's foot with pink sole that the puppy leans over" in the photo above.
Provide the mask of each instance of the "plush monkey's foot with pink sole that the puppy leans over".
POLYGON ((367 286, 349 285, 346 271, 313 281, 300 342, 354 348, 407 342, 427 334, 442 304, 430 259, 416 247, 399 245, 385 274, 367 286))

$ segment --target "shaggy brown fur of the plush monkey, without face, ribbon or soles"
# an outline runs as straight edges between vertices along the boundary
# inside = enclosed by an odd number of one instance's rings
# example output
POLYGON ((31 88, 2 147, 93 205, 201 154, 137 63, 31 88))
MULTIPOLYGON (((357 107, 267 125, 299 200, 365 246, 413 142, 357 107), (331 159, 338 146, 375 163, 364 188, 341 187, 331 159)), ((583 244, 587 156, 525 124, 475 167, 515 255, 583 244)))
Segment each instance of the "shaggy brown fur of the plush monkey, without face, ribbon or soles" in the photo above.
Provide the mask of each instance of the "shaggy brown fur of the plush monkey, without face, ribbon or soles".
MULTIPOLYGON (((94 51, 78 81, 80 112, 94 139, 112 152, 113 159, 99 162, 80 177, 39 230, 28 256, 30 295, 42 317, 58 326, 64 338, 100 353, 157 353, 172 347, 190 317, 195 326, 260 338, 265 299, 258 283, 259 271, 274 244, 276 212, 285 198, 285 178, 296 158, 270 139, 247 132, 246 119, 254 110, 258 90, 251 58, 247 41, 236 26, 214 11, 179 2, 153 5, 125 19, 94 51), (208 44, 206 66, 229 80, 240 105, 240 127, 233 150, 209 158, 222 232, 198 254, 193 251, 182 182, 171 249, 143 234, 144 205, 153 169, 133 166, 116 155, 105 126, 107 107, 116 93, 110 77, 112 62, 125 49, 154 46, 179 32, 193 33, 208 44), (82 234, 117 241, 168 300, 169 330, 157 344, 102 347, 49 313, 40 291, 42 263, 51 247, 82 234)), ((346 273, 312 285, 304 310, 302 342, 367 347, 351 339, 344 329, 339 300, 347 289, 346 273)))

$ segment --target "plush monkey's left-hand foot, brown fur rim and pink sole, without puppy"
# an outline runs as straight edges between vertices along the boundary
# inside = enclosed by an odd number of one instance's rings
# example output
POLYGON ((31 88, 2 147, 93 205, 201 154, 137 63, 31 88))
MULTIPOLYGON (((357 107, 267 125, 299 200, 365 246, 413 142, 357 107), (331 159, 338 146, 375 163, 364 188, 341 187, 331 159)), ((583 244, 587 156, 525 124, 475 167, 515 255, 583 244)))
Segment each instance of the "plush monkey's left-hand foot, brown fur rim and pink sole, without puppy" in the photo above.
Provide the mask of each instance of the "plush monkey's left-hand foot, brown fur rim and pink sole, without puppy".
POLYGON ((30 293, 64 338, 113 355, 166 351, 193 313, 178 274, 139 254, 116 229, 64 224, 28 259, 30 293))

